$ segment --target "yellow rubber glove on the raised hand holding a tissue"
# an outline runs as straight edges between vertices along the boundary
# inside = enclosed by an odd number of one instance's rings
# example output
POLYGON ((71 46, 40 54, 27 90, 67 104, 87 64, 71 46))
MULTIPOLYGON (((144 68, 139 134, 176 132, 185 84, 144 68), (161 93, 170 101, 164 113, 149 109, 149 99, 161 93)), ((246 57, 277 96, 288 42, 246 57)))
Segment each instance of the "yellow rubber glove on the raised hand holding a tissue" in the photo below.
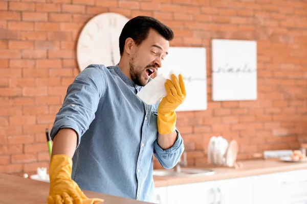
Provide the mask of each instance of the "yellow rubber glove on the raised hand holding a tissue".
POLYGON ((186 90, 183 77, 172 74, 171 80, 166 80, 164 84, 167 96, 162 98, 158 106, 158 132, 162 135, 170 134, 175 131, 177 115, 175 109, 181 105, 186 97, 186 90))

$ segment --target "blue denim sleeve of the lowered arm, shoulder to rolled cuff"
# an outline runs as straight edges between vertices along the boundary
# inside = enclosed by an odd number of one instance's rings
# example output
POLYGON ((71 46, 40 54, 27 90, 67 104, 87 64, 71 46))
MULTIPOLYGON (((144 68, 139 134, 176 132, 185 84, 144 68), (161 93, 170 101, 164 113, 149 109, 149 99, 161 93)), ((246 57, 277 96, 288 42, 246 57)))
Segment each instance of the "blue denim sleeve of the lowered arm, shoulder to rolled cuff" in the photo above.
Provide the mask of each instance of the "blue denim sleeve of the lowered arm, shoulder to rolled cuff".
POLYGON ((78 147, 81 136, 95 118, 104 90, 105 79, 99 67, 89 65, 82 70, 67 89, 63 105, 56 114, 50 132, 51 139, 54 139, 60 129, 71 128, 77 133, 78 147))

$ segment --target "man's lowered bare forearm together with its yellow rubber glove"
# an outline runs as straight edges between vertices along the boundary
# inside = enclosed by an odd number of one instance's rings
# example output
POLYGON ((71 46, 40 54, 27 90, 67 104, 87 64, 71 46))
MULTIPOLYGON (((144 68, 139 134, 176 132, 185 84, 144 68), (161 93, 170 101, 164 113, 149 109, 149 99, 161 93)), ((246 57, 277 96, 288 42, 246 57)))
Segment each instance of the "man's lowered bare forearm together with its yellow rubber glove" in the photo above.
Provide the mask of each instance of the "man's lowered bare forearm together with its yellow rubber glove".
MULTIPOLYGON (((70 156, 73 155, 72 149, 74 150, 75 148, 71 148, 70 146, 69 148, 62 148, 60 151, 68 154, 56 154, 59 152, 61 145, 71 144, 70 138, 75 136, 74 139, 76 139, 77 136, 74 134, 72 130, 60 130, 54 139, 53 156, 51 157, 49 169, 50 189, 47 198, 48 204, 94 204, 103 201, 103 199, 98 198, 87 198, 78 184, 71 179, 73 162, 70 156), (64 132, 70 134, 63 136, 64 132), (59 136, 59 134, 62 135, 59 136)), ((76 144, 76 142, 73 144, 76 144)))

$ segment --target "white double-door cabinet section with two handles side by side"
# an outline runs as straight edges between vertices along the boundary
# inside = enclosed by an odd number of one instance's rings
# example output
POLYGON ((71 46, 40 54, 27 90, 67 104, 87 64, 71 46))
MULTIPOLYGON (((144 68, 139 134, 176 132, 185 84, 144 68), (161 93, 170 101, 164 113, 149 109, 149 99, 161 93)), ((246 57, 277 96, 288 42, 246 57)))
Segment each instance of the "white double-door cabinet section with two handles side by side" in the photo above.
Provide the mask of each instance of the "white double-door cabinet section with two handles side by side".
POLYGON ((257 204, 257 176, 167 187, 167 204, 257 204))

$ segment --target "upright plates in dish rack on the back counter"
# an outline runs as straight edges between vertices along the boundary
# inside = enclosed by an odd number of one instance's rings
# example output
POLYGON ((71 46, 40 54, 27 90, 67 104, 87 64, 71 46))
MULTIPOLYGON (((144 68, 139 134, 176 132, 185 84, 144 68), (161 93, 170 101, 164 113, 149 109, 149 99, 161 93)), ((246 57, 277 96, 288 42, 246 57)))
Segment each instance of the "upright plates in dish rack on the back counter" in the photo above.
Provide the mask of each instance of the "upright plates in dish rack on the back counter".
POLYGON ((228 142, 222 136, 213 136, 208 144, 208 164, 215 166, 242 168, 241 163, 237 163, 238 143, 236 140, 228 142))

